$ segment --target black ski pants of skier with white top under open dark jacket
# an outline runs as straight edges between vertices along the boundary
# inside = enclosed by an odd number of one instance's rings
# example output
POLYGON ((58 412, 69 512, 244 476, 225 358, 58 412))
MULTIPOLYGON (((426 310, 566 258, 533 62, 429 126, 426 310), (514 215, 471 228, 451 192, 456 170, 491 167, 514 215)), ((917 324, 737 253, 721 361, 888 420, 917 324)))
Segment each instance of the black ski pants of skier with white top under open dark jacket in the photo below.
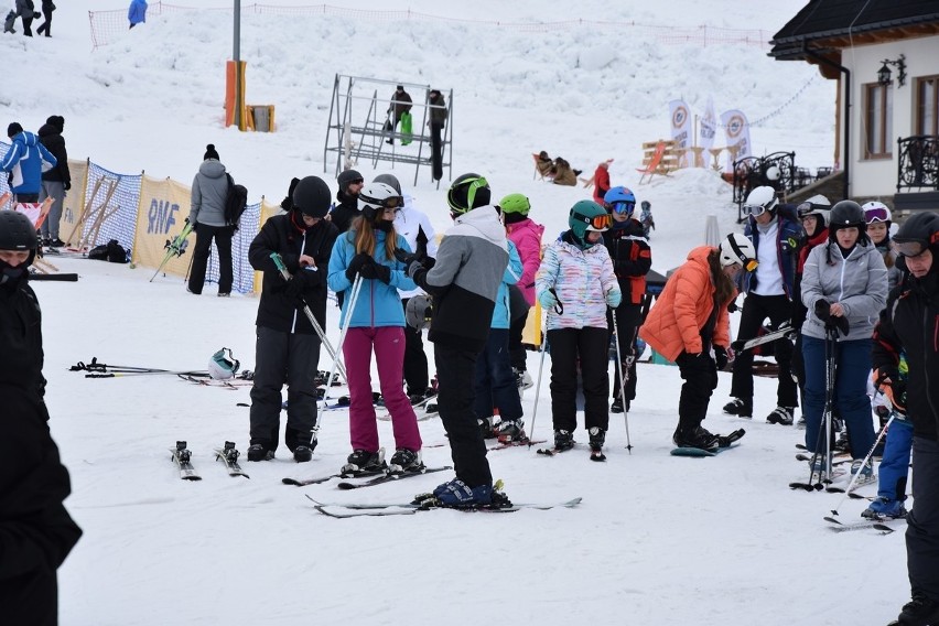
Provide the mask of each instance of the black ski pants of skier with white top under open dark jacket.
MULTIPOLYGON (((767 317, 771 330, 778 328, 782 322, 789 322, 792 317, 792 302, 786 295, 747 294, 741 312, 737 341, 755 338, 767 317)), ((792 344, 789 339, 779 339, 774 342, 773 350, 776 363, 779 364, 776 403, 780 407, 798 407, 798 387, 792 379, 792 344)), ((734 357, 731 396, 753 403, 753 350, 741 350, 734 357)))

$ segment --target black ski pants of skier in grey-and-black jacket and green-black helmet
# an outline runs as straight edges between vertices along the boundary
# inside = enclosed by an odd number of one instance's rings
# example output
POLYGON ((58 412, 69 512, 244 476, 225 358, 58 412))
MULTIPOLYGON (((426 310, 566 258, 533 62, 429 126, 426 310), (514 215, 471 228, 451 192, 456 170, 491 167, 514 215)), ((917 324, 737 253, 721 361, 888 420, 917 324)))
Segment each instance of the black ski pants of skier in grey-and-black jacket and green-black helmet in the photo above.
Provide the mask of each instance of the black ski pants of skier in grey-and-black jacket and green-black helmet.
POLYGON ((476 399, 473 379, 478 356, 477 350, 441 344, 434 344, 433 347, 440 420, 450 439, 456 477, 470 487, 493 484, 493 474, 486 458, 486 443, 473 410, 476 399))

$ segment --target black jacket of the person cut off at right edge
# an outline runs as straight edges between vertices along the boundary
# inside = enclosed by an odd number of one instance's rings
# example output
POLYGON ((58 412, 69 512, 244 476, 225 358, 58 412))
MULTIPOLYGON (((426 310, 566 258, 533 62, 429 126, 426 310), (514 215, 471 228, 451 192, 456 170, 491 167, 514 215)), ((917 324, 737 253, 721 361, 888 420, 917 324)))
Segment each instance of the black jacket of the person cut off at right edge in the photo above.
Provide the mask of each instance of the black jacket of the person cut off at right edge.
MULTIPOLYGON (((933 255, 935 259, 935 255, 933 255)), ((908 274, 891 292, 874 330, 873 367, 896 370, 906 353, 906 409, 916 436, 939 440, 939 269, 908 274)))

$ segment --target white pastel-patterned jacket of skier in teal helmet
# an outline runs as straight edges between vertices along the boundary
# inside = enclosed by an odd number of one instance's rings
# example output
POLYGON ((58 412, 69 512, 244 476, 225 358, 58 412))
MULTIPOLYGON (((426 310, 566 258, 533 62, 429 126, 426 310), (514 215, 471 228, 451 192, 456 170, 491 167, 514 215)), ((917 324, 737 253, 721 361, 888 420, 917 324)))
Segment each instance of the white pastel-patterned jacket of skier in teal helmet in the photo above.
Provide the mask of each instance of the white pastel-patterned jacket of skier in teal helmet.
POLYGON ((570 230, 544 249, 535 280, 538 298, 553 289, 563 313, 548 311, 547 330, 606 328, 606 293, 619 292, 609 252, 601 245, 581 250, 570 230))

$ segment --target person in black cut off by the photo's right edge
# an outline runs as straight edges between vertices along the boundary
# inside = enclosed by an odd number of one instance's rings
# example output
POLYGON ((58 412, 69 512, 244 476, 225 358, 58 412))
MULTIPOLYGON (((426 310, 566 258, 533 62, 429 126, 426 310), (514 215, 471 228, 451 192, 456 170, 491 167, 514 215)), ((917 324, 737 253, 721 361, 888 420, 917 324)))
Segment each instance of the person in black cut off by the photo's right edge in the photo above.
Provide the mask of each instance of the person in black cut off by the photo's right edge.
MULTIPOLYGON (((881 311, 874 332, 876 382, 913 420, 913 510, 907 516, 906 554, 911 601, 894 624, 939 623, 939 215, 916 213, 894 244, 911 276, 881 311), (905 353, 909 379, 899 375, 905 353)), ((893 431, 892 431, 893 432, 893 431)))

